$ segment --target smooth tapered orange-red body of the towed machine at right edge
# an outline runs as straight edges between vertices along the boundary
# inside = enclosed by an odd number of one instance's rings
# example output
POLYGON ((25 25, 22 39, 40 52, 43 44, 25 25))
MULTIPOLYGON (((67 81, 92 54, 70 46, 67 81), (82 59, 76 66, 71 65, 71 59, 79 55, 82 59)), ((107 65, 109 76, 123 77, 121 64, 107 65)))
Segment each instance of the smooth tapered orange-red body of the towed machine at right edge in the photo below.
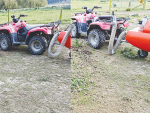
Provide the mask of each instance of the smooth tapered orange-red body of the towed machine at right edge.
POLYGON ((133 46, 150 52, 150 33, 144 33, 139 28, 134 28, 127 32, 126 41, 133 46))

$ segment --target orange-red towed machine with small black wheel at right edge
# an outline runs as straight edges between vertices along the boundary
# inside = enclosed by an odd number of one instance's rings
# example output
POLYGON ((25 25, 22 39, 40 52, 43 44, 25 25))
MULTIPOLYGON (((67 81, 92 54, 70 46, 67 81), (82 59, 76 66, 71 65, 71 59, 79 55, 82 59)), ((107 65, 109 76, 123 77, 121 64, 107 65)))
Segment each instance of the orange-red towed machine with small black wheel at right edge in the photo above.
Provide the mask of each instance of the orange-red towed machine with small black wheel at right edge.
POLYGON ((139 27, 127 32, 126 41, 139 48, 139 57, 145 58, 150 52, 150 20, 145 16, 138 24, 139 27))

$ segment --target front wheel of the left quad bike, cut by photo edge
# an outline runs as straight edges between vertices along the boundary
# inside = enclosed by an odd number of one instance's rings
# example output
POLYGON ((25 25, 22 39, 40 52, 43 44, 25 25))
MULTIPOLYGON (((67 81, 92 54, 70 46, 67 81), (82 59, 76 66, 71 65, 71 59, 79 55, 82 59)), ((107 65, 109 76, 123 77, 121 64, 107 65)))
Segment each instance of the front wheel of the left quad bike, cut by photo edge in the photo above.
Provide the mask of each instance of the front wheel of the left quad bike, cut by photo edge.
POLYGON ((10 50, 12 46, 11 40, 8 35, 0 34, 0 47, 3 51, 10 50))

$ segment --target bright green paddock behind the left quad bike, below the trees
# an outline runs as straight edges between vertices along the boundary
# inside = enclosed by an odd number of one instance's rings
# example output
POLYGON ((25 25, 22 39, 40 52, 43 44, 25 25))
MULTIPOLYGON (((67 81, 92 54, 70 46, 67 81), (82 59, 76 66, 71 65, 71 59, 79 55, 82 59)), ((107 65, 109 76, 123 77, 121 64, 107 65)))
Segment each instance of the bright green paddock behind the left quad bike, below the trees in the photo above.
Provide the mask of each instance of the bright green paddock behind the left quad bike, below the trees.
MULTIPOLYGON (((49 22, 59 20, 60 9, 36 9, 36 10, 25 10, 25 11, 10 11, 9 20, 11 21, 11 15, 18 17, 20 14, 28 15, 27 17, 22 17, 20 20, 26 20, 28 24, 47 24, 49 22)), ((70 24, 70 14, 71 10, 64 9, 62 12, 62 24, 70 24)), ((0 13, 0 24, 8 22, 8 13, 0 13)))

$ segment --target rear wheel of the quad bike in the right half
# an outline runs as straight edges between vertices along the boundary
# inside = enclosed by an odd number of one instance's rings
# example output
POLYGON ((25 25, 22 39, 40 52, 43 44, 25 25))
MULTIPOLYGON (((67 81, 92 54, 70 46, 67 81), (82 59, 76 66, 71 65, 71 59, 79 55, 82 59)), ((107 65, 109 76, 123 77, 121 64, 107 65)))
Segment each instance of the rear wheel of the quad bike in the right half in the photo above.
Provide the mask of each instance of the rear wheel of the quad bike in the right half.
POLYGON ((100 29, 93 29, 89 32, 88 41, 91 47, 99 49, 105 44, 105 34, 100 29))

